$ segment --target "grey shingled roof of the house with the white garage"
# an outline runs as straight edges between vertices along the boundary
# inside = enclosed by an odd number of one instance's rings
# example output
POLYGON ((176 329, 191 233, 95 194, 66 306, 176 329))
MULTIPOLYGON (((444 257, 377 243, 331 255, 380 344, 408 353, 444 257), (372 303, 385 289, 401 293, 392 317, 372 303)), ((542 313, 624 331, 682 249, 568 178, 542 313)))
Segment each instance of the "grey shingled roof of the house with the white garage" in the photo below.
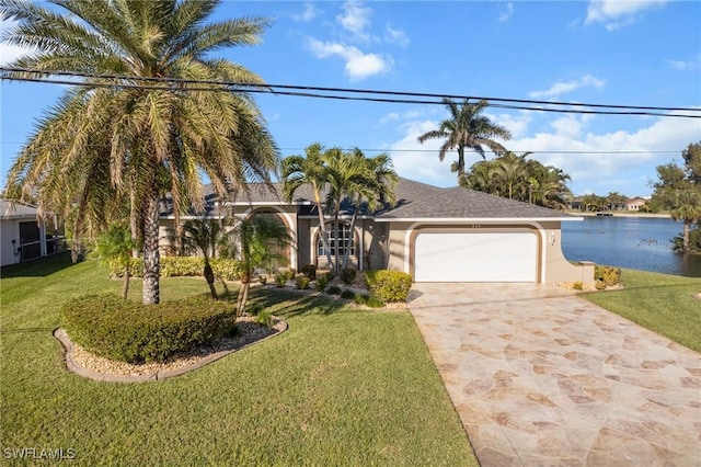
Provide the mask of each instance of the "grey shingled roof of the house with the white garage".
MULTIPOLYGON (((264 184, 251 184, 249 193, 240 193, 235 203, 241 205, 274 205, 274 204, 297 204, 301 205, 300 216, 317 215, 313 202, 313 193, 308 185, 302 185, 295 192, 291 203, 283 197, 283 184, 275 183, 273 191, 264 184)), ((218 215, 217 196, 211 186, 205 187, 206 215, 218 215)), ((452 186, 441 189, 416 182, 409 179, 400 179, 394 190, 397 205, 367 212, 367 205, 363 205, 359 215, 370 215, 378 221, 390 220, 448 220, 448 219, 550 219, 567 220, 576 219, 560 210, 521 203, 514 200, 504 198, 473 190, 452 186)), ((325 193, 321 193, 321 198, 325 198, 325 193)), ((342 214, 353 213, 353 203, 345 200, 342 204, 342 214)), ((162 215, 172 216, 172 202, 166 198, 165 206, 161 210, 162 215)), ((203 215, 203 213, 189 213, 189 215, 203 215)))

